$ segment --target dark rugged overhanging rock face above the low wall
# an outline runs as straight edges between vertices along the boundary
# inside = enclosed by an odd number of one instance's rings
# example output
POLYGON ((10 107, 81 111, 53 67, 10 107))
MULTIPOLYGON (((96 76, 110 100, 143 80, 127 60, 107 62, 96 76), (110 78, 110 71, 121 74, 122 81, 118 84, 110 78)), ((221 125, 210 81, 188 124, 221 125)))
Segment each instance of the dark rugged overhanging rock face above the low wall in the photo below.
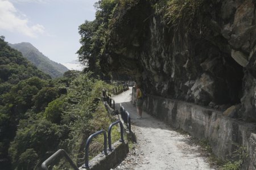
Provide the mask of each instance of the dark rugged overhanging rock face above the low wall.
POLYGON ((118 14, 105 51, 108 70, 135 76, 148 94, 256 120, 254 0, 205 0, 189 27, 168 25, 142 0, 118 14))

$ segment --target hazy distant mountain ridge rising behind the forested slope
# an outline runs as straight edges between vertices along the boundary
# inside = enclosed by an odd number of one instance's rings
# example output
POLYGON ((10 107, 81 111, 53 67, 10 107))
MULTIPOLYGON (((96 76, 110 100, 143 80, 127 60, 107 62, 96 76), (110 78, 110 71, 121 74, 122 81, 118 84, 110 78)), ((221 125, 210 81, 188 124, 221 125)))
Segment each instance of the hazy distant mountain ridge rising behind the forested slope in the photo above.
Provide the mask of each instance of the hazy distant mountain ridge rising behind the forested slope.
POLYGON ((62 76, 65 71, 68 71, 67 67, 61 65, 60 63, 51 61, 51 59, 44 56, 44 54, 39 52, 39 50, 29 42, 9 45, 19 52, 22 52, 23 57, 34 63, 34 65, 38 67, 38 69, 44 71, 44 73, 51 75, 52 78, 62 76))

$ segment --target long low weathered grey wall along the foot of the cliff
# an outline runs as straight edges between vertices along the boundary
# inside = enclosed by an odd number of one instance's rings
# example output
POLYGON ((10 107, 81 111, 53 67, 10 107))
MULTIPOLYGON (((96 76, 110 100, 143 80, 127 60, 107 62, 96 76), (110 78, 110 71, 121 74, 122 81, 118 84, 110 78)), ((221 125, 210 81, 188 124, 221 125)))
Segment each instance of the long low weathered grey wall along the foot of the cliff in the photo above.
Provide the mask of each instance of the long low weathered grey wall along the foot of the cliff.
MULTIPOLYGON (((134 99, 135 89, 133 102, 134 99)), ((227 159, 237 146, 245 146, 249 158, 243 163, 243 169, 255 169, 255 124, 226 117, 220 111, 199 105, 152 95, 144 99, 143 109, 174 128, 182 129, 196 138, 207 139, 218 158, 227 159)))

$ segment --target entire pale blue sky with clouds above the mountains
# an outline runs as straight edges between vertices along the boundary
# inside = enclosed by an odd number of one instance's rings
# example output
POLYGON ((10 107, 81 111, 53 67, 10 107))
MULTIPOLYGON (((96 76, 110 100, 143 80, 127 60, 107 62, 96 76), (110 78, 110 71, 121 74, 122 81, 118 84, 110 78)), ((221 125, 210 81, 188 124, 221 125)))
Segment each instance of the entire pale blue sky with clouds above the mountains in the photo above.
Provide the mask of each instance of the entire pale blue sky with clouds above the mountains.
POLYGON ((94 20, 98 0, 0 0, 0 36, 30 42, 59 63, 77 59, 78 27, 94 20))

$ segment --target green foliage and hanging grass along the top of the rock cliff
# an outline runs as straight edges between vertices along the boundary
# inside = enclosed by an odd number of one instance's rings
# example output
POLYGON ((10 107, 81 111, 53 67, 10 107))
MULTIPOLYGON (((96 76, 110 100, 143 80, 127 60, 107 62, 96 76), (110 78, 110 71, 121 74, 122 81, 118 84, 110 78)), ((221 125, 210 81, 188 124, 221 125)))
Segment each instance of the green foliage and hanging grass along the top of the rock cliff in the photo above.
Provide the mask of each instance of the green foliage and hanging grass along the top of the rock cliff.
MULTIPOLYGON (((164 22, 170 27, 177 26, 181 22, 187 24, 187 28, 199 14, 204 0, 145 0, 155 10, 156 15, 162 15, 164 22)), ((127 10, 135 7, 138 0, 102 0, 95 4, 96 19, 92 22, 85 21, 79 27, 81 35, 81 48, 78 50, 79 61, 88 65, 88 70, 104 77, 108 75, 108 61, 103 57, 108 37, 113 28, 122 21, 122 15, 127 10)))

